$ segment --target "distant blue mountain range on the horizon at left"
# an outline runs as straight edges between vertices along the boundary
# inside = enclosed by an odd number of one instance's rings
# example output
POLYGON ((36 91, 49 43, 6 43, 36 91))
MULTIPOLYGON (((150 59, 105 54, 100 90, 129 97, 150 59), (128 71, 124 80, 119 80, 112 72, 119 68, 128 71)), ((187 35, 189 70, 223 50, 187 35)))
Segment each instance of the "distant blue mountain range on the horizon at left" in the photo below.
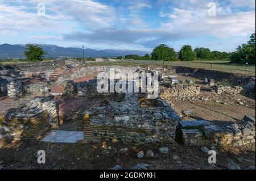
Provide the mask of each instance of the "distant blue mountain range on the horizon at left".
MULTIPOLYGON (((61 57, 82 57, 82 48, 64 48, 58 47, 56 45, 41 45, 45 52, 47 52, 46 57, 61 58, 61 57)), ((0 45, 0 58, 24 58, 25 45, 10 45, 2 44, 0 45)), ((140 50, 94 50, 94 49, 84 49, 85 57, 117 57, 125 56, 126 54, 138 54, 139 56, 144 56, 144 54, 149 53, 140 50)))

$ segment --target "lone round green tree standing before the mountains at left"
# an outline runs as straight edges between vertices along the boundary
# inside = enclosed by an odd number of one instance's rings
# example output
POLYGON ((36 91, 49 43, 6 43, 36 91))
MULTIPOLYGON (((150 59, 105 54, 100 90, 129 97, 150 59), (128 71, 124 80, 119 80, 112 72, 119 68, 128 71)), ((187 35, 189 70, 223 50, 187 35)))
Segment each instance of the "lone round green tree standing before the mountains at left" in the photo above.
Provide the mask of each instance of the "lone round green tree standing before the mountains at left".
POLYGON ((43 56, 47 54, 44 52, 43 48, 39 45, 26 44, 26 49, 24 51, 24 56, 27 57, 28 61, 36 62, 42 61, 43 56))

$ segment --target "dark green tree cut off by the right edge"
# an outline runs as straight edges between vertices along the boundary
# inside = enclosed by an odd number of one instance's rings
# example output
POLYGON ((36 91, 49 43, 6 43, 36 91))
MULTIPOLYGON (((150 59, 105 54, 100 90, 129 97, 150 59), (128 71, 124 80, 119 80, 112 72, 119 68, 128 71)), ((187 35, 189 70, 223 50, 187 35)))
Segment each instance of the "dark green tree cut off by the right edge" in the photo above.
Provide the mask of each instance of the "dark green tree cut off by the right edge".
POLYGON ((255 64, 255 32, 247 44, 242 44, 232 53, 230 59, 232 62, 255 64))

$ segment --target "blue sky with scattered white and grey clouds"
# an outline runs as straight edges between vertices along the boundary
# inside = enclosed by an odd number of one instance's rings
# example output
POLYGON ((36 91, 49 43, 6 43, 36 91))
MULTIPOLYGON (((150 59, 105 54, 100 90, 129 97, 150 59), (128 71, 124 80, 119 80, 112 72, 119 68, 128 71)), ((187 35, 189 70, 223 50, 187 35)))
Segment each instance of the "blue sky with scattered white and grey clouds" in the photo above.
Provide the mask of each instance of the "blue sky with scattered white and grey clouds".
POLYGON ((233 51, 254 31, 255 0, 0 0, 0 44, 233 51))

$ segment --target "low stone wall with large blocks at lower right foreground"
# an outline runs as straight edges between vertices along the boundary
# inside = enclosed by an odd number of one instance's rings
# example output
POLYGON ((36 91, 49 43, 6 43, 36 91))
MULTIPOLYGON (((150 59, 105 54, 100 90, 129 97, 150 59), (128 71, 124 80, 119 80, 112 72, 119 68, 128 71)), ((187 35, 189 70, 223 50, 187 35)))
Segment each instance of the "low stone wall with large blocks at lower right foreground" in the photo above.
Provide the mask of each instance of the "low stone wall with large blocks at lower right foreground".
POLYGON ((179 121, 176 138, 187 146, 242 146, 255 143, 255 117, 221 128, 209 121, 179 121))

